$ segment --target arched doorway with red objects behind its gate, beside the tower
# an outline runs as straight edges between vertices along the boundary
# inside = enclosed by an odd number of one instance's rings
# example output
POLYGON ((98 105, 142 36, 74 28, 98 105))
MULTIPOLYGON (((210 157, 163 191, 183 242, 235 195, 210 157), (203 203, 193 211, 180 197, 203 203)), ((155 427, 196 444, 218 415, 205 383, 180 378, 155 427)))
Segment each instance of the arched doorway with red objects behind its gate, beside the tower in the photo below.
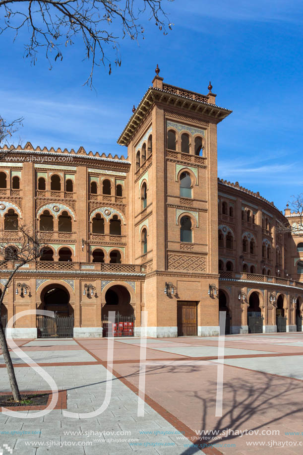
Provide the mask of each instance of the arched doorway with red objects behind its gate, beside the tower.
POLYGON ((125 286, 111 286, 105 294, 105 305, 102 308, 103 336, 109 336, 109 311, 115 311, 114 336, 134 335, 134 309, 130 305, 131 296, 125 286))

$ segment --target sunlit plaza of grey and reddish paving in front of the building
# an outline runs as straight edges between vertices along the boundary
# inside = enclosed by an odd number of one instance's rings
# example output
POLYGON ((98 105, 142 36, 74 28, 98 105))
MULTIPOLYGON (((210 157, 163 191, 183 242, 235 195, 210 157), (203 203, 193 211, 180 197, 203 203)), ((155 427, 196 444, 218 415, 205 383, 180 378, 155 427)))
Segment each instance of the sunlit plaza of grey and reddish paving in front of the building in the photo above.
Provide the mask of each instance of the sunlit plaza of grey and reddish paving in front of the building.
MULTIPOLYGON (((77 415, 0 413, 0 447, 7 444, 13 455, 302 454, 303 333, 226 336, 222 416, 216 417, 218 340, 147 339, 144 416, 138 416, 139 338, 115 338, 109 365, 107 338, 18 340, 66 390, 67 410, 77 415), (109 385, 104 412, 78 415, 98 410, 109 385)), ((50 390, 15 353, 12 359, 20 390, 50 390)), ((2 355, 0 390, 10 390, 2 355)))

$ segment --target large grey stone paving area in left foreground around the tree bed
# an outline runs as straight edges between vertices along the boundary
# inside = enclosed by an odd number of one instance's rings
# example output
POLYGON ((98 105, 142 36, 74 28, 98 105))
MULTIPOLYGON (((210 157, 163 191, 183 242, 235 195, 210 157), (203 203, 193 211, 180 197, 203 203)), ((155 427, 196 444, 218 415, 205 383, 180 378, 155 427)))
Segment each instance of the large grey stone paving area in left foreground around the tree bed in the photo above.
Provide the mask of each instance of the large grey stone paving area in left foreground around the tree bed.
MULTIPOLYGON (((68 351, 68 353, 71 352, 75 351, 68 351)), ((54 378, 59 389, 67 389, 67 410, 84 413, 96 410, 102 405, 107 385, 107 370, 103 366, 56 366, 44 369, 54 378)), ((32 368, 16 368, 15 372, 21 390, 49 389, 49 385, 32 368)), ((0 431, 40 432, 39 436, 37 434, 1 435, 1 443, 8 444, 13 449, 13 455, 201 453, 196 448, 184 447, 184 444, 190 444, 190 441, 186 438, 176 439, 174 435, 177 430, 150 406, 145 404, 145 416, 138 417, 137 395, 114 376, 111 384, 112 396, 108 408, 102 414, 90 419, 64 417, 62 410, 53 410, 42 419, 34 418, 37 411, 25 411, 28 415, 32 414, 31 419, 16 419, 0 413, 0 431), (64 434, 68 431, 79 432, 79 434, 64 434), (125 435, 126 431, 130 433, 125 435), (170 431, 172 437, 167 434, 157 436, 140 434, 140 431, 170 431), (111 439, 116 441, 110 442, 111 439), (117 442, 117 439, 121 441, 117 442), (132 442, 138 442, 140 445, 131 446, 132 442), (42 443, 44 443, 43 447, 42 443), (55 445, 59 443, 62 447, 55 445), (81 445, 77 445, 78 443, 81 445)), ((4 369, 0 370, 0 390, 10 390, 4 369)))

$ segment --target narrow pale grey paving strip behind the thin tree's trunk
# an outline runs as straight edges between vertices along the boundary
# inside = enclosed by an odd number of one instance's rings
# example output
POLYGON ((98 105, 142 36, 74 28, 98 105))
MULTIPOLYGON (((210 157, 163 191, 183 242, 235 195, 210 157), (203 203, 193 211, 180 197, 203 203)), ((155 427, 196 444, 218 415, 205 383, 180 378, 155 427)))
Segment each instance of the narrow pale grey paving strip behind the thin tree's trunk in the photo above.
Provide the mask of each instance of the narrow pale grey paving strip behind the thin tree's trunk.
MULTIPOLYGON (((26 354, 37 363, 58 362, 96 362, 96 359, 83 349, 70 351, 26 351, 26 354)), ((11 352, 13 363, 24 363, 20 357, 11 352)), ((0 355, 0 364, 4 364, 3 355, 0 355)))

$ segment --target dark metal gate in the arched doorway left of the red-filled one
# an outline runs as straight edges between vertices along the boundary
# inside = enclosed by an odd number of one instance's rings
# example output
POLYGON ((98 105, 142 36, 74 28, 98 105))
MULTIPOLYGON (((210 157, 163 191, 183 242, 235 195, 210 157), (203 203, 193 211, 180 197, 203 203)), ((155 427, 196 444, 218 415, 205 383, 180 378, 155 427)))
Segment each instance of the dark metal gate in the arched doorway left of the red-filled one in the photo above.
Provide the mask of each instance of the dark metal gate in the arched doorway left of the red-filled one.
POLYGON ((74 327, 73 316, 38 316, 38 338, 72 338, 74 327))

